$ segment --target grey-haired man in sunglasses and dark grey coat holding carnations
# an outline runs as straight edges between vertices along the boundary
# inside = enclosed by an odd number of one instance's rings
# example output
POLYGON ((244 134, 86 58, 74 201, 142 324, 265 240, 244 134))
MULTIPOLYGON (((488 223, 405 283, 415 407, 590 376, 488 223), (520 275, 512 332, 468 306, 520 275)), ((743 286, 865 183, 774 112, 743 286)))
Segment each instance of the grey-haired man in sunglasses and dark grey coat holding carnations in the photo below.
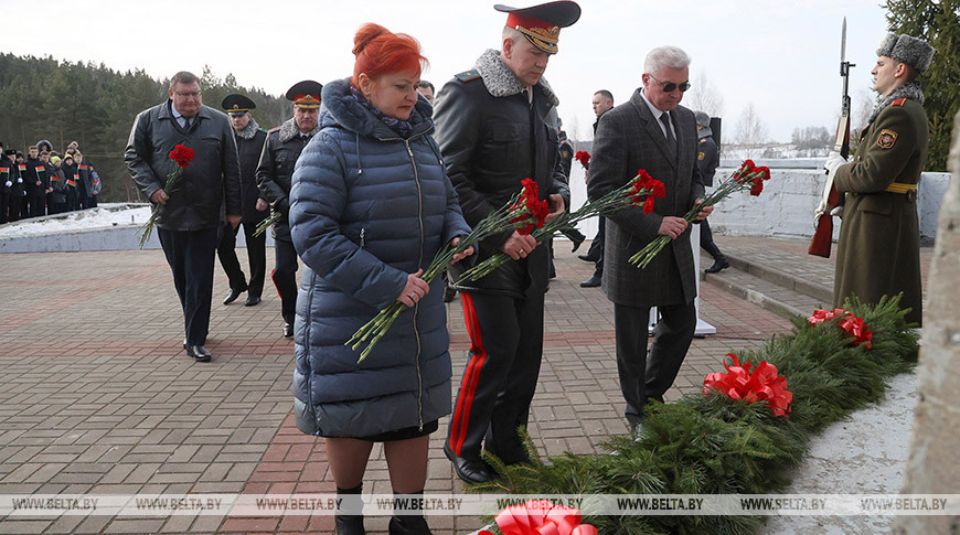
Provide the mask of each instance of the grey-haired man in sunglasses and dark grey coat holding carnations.
MULTIPOLYGON (((590 160, 590 199, 629 182, 639 169, 666 186, 653 212, 625 210, 607 218, 604 247, 604 292, 614 302, 617 371, 627 402, 631 431, 643 420, 648 398, 663 402, 673 384, 696 328, 696 274, 690 232, 683 215, 703 201, 696 165, 697 139, 693 113, 682 106, 690 88, 690 56, 674 46, 652 50, 644 62, 643 87, 629 101, 600 118, 590 160), (644 269, 629 258, 658 236, 673 242, 644 269), (650 360, 647 323, 657 307, 650 360)), ((704 208, 698 220, 712 207, 704 208)))

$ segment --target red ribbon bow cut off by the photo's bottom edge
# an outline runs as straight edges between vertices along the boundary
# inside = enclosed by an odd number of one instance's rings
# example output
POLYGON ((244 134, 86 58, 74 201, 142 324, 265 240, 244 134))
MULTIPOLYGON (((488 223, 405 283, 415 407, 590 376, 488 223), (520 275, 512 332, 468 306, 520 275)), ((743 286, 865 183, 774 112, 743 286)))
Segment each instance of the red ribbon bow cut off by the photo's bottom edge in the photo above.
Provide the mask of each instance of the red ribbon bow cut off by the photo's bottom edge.
MULTIPOLYGON (((527 500, 497 515, 503 535, 597 535, 597 528, 580 524, 579 510, 555 505, 548 500, 527 500)), ((483 529, 479 535, 493 535, 483 529)))

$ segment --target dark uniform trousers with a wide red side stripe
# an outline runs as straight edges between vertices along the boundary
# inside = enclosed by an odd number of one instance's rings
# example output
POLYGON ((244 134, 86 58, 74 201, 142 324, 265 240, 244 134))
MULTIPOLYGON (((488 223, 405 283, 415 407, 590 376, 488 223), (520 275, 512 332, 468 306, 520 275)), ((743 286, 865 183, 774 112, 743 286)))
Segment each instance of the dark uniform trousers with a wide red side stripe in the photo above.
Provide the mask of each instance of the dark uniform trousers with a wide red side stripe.
POLYGON ((506 463, 527 460, 526 426, 543 356, 543 295, 530 299, 461 291, 470 353, 447 441, 480 460, 481 442, 506 463))

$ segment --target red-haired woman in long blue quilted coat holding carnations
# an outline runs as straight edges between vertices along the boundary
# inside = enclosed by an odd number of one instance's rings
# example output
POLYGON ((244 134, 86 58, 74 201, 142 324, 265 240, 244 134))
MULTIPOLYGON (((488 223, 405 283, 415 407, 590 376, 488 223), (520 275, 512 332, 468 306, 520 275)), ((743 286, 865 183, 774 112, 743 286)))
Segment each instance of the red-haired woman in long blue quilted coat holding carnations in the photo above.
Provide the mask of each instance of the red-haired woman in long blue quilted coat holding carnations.
MULTIPOLYGON (((321 130, 300 154, 290 191, 291 236, 305 264, 297 426, 326 437, 338 494, 361 494, 375 442, 393 491, 423 494, 429 434, 450 414, 451 366, 442 282, 420 275, 470 227, 430 137, 433 108, 417 94, 419 44, 364 24, 353 53, 353 76, 323 87, 321 130), (394 300, 408 310, 358 364, 344 343, 394 300)), ((430 533, 422 513, 398 513, 391 534, 430 533)), ((338 511, 337 531, 364 533, 363 516, 338 511)))

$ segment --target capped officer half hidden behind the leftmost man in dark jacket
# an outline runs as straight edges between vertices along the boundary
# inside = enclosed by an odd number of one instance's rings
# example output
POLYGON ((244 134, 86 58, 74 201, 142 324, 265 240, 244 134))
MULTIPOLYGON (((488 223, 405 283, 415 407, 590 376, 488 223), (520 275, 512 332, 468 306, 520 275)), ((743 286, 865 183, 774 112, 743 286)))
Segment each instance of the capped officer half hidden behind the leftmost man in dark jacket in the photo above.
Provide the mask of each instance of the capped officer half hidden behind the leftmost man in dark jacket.
POLYGON ((245 95, 227 95, 221 105, 226 115, 230 116, 239 156, 243 204, 241 224, 244 227, 244 236, 247 240, 247 258, 250 263, 250 280, 247 283, 246 276, 236 257, 237 228, 224 224, 223 236, 221 236, 220 245, 216 247, 220 265, 223 266, 223 270, 230 279, 230 293, 223 303, 230 304, 236 301, 241 293, 246 291, 247 300, 244 304, 253 307, 260 302, 260 295, 264 292, 264 276, 267 271, 267 235, 260 233, 259 236, 254 236, 257 225, 269 215, 267 211, 269 205, 260 195, 256 179, 257 163, 260 161, 260 152, 264 150, 267 131, 260 128, 250 115, 250 110, 257 105, 245 95))

